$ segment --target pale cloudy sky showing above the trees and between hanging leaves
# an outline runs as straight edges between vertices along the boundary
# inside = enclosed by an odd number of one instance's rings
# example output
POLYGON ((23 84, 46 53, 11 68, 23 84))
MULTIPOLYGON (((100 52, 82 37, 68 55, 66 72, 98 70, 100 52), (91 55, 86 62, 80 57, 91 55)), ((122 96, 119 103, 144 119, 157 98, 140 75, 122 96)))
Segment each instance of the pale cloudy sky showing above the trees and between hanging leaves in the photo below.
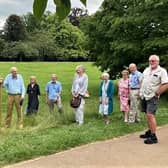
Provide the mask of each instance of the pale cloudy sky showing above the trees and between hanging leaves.
MULTIPOLYGON (((101 6, 103 0, 87 0, 87 9, 89 14, 95 13, 101 6)), ((84 7, 80 0, 71 0, 72 7, 84 7)), ((0 29, 2 29, 5 20, 11 14, 23 15, 32 12, 33 0, 0 0, 0 29)), ((53 0, 48 0, 47 9, 55 11, 53 0)))

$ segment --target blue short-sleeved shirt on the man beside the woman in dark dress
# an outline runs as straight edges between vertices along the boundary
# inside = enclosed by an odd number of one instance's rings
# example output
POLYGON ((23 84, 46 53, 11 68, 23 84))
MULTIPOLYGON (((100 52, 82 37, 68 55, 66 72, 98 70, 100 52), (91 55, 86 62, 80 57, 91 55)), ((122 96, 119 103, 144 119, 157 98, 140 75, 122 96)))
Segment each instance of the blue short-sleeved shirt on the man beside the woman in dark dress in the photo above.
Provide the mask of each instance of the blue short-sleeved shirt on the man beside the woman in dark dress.
POLYGON ((45 91, 48 92, 48 99, 53 100, 59 97, 59 93, 62 91, 62 86, 59 81, 48 82, 45 88, 45 91))

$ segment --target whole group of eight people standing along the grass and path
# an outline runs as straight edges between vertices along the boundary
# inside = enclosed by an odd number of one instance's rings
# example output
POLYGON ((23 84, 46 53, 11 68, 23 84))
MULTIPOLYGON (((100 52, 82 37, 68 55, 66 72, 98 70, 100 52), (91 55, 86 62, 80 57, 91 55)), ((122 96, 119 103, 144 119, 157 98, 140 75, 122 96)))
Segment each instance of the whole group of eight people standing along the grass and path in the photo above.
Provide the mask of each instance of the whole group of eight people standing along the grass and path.
MULTIPOLYGON (((88 76, 85 67, 79 65, 75 69, 76 73, 72 81, 71 93, 73 97, 81 98, 80 105, 74 108, 75 121, 77 124, 84 123, 85 97, 88 97, 88 76)), ((139 103, 142 111, 146 113, 148 130, 140 138, 146 138, 144 143, 157 143, 155 112, 160 95, 168 88, 167 71, 159 66, 159 57, 151 55, 149 57, 149 67, 143 73, 137 70, 134 63, 129 65, 129 71, 122 71, 122 78, 118 82, 118 97, 120 100, 120 111, 124 114, 124 122, 140 122, 139 103), (130 71, 130 74, 129 74, 130 71)), ((25 96, 24 81, 17 68, 12 67, 3 82, 7 90, 7 115, 6 127, 11 126, 12 109, 15 104, 18 116, 18 128, 23 127, 22 103, 25 96)), ((113 112, 114 84, 110 80, 108 73, 101 76, 102 81, 99 89, 99 113, 103 116, 104 122, 109 124, 109 115, 113 112)), ((61 92, 62 85, 57 80, 57 75, 51 75, 51 81, 45 87, 46 103, 49 111, 53 112, 54 105, 58 107, 58 112, 62 113, 61 92)), ((39 107, 40 87, 36 82, 36 77, 30 77, 27 86, 28 103, 26 114, 37 113, 39 107)))

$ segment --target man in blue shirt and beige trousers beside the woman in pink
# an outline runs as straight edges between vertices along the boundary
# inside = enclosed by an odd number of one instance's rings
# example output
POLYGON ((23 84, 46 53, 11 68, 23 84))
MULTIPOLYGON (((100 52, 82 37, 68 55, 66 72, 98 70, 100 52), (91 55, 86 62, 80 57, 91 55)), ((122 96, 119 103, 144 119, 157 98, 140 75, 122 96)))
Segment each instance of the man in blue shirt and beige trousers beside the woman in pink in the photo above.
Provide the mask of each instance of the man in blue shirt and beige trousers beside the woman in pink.
POLYGON ((140 121, 140 112, 138 109, 139 106, 139 89, 141 83, 141 72, 137 70, 137 67, 134 63, 129 65, 129 70, 131 72, 129 77, 129 88, 130 88, 130 112, 129 112, 129 122, 139 122, 140 121))

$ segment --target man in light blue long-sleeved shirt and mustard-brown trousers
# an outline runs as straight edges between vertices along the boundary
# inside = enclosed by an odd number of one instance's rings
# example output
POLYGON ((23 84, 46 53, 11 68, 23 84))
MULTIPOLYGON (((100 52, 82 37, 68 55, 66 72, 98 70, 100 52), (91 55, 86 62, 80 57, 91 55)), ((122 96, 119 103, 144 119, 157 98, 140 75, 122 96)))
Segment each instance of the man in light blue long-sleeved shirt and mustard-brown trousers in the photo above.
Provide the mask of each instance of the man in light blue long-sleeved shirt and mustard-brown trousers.
POLYGON ((6 88, 7 97, 7 116, 6 116, 6 127, 10 128, 12 119, 12 109, 15 104, 18 116, 18 128, 23 128, 23 115, 22 115, 22 103, 25 95, 25 86, 23 78, 18 74, 16 67, 12 67, 4 80, 3 86, 6 88))

